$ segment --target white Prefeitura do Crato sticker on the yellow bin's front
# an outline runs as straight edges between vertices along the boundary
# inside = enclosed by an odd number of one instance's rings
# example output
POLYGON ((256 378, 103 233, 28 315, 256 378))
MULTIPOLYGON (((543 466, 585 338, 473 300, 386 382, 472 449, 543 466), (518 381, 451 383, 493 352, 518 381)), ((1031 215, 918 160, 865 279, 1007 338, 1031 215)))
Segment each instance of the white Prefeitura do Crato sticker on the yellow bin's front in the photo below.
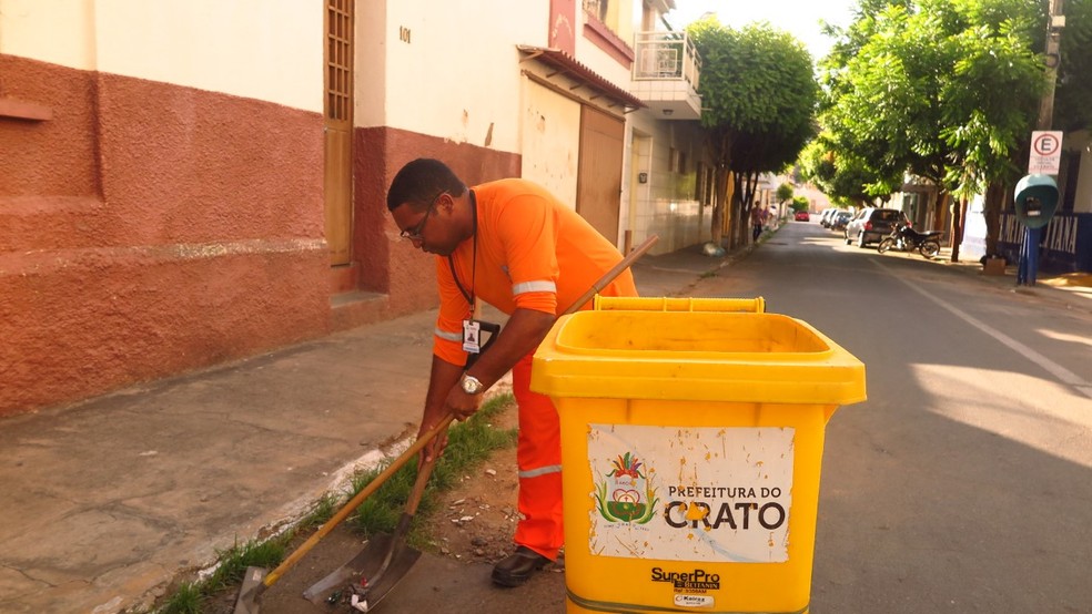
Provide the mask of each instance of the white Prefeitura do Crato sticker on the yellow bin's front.
MULTIPOLYGON (((587 469, 579 474, 587 475, 580 490, 589 552, 709 564, 787 562, 796 432, 588 423, 587 469)), ((808 539, 802 531, 793 535, 797 543, 808 539)))

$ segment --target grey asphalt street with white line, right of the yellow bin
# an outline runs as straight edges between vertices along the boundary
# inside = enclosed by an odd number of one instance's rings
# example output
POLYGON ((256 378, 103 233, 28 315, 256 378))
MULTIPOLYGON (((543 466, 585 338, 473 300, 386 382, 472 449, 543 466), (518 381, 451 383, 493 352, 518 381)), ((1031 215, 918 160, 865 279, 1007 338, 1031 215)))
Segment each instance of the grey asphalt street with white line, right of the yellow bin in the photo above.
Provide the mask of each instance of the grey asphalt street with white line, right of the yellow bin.
POLYGON ((812 612, 1092 604, 1092 297, 977 269, 791 223, 694 288, 765 296, 867 366, 827 427, 812 612))

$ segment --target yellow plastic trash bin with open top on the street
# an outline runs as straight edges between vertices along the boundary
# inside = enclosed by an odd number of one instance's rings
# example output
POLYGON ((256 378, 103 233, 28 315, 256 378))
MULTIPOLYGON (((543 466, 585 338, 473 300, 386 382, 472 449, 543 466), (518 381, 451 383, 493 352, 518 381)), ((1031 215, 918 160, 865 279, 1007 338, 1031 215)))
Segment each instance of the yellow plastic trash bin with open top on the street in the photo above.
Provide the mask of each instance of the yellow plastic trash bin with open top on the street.
POLYGON ((582 311, 535 354, 568 612, 808 611, 823 430, 865 366, 762 307, 582 311))

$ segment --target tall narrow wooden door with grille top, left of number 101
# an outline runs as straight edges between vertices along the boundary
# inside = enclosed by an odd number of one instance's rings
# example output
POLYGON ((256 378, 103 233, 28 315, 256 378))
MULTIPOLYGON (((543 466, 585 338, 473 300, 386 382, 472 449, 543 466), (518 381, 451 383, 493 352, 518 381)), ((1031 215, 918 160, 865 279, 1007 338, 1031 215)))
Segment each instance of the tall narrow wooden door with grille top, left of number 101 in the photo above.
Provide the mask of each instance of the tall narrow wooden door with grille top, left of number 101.
POLYGON ((352 259, 353 2, 326 0, 324 199, 330 264, 352 259))

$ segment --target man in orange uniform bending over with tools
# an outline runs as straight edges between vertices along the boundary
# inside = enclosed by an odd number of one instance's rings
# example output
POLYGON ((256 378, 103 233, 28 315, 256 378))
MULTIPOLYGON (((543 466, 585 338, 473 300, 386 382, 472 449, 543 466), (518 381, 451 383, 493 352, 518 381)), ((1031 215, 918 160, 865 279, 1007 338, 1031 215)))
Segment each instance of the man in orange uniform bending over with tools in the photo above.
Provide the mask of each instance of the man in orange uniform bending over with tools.
MULTIPOLYGON (((518 586, 554 561, 564 544, 560 429, 549 398, 529 389, 532 356, 557 314, 618 264, 621 254, 542 186, 508 178, 467 188, 436 160, 403 166, 387 192, 387 208, 403 238, 436 255, 439 317, 418 434, 448 412, 457 419, 474 415, 483 392, 512 371, 519 406, 523 519, 515 553, 496 564, 493 581, 518 586), (465 368, 479 334, 474 314, 478 298, 509 318, 489 350, 465 368)), ((633 275, 624 272, 600 294, 636 296, 633 275)), ((444 443, 437 438, 424 449, 425 458, 439 453, 444 443)))

